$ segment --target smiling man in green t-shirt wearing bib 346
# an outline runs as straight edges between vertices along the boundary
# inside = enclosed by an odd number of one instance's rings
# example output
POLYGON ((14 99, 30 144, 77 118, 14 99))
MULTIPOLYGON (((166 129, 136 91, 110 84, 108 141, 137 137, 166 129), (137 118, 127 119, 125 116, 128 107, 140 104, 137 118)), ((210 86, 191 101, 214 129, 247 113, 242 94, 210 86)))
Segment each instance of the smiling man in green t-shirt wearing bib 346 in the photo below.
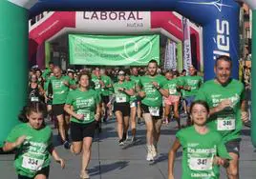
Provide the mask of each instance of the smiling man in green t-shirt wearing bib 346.
POLYGON ((240 132, 243 122, 248 120, 245 109, 244 85, 231 79, 232 61, 230 57, 216 59, 214 80, 206 82, 196 99, 204 100, 210 107, 208 126, 221 132, 227 151, 233 158, 226 172, 228 178, 239 178, 240 132))

